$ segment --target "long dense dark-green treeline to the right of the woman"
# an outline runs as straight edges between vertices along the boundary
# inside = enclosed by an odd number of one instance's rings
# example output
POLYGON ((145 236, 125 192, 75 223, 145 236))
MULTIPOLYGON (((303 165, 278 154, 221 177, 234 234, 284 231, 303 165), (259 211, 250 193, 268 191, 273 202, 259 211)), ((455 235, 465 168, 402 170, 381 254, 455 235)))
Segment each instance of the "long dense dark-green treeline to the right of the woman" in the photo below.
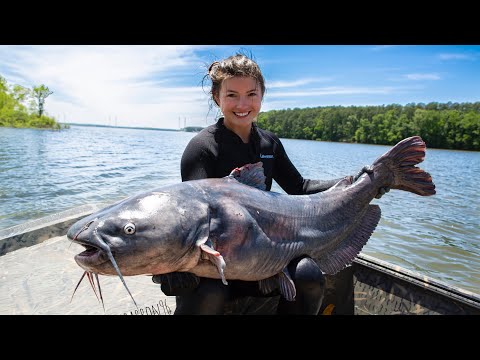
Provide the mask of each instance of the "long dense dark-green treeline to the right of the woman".
POLYGON ((419 135, 430 148, 480 150, 480 102, 271 110, 258 125, 291 139, 394 145, 419 135))

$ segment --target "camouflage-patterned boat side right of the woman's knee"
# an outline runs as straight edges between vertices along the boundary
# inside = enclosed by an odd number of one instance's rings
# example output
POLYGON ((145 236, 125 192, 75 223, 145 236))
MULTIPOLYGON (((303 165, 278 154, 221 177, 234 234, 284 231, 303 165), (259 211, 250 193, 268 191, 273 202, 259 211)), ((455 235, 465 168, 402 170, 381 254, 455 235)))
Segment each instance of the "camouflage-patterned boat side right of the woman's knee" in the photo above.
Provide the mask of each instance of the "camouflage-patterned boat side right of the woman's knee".
POLYGON ((480 315, 479 294, 365 254, 326 284, 324 314, 480 315))

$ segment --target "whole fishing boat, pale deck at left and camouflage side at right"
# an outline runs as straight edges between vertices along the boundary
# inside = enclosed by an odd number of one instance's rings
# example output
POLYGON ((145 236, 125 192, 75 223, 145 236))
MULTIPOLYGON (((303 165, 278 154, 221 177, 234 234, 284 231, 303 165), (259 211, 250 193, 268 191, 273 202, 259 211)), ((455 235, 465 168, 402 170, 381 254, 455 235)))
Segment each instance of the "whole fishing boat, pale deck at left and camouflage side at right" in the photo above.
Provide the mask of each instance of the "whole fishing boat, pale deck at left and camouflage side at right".
MULTIPOLYGON (((73 259, 79 245, 66 232, 106 205, 84 205, 0 230, 0 314, 173 313, 175 297, 161 293, 150 276, 126 278, 136 304, 118 277, 101 277, 108 278, 101 280, 103 306, 87 280, 72 297, 83 270, 73 259)), ((480 315, 480 294, 361 253, 326 276, 319 315, 480 315)))

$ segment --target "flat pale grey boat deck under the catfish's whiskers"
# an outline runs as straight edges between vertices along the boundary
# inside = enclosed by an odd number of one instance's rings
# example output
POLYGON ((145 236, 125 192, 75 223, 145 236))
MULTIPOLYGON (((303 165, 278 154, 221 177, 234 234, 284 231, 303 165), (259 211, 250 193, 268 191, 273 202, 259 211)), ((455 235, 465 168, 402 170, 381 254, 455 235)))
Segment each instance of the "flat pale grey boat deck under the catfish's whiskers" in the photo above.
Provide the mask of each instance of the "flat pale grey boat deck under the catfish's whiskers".
POLYGON ((166 296, 151 276, 125 277, 137 307, 118 276, 99 276, 105 311, 83 270, 73 259, 83 247, 66 236, 0 256, 0 314, 3 315, 170 315, 175 297, 166 296))

